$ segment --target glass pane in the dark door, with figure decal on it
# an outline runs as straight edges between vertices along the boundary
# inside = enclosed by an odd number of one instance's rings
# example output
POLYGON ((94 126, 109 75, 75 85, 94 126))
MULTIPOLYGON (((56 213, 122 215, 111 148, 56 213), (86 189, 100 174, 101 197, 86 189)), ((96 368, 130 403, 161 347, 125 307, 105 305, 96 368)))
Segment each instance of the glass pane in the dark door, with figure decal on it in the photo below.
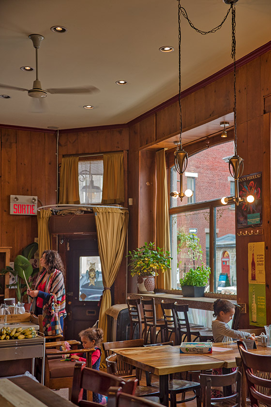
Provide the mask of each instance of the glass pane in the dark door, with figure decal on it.
POLYGON ((99 301, 104 285, 99 256, 79 258, 79 301, 99 301))

